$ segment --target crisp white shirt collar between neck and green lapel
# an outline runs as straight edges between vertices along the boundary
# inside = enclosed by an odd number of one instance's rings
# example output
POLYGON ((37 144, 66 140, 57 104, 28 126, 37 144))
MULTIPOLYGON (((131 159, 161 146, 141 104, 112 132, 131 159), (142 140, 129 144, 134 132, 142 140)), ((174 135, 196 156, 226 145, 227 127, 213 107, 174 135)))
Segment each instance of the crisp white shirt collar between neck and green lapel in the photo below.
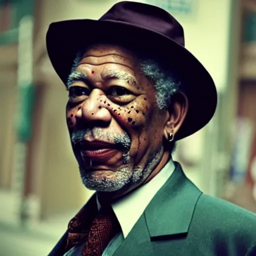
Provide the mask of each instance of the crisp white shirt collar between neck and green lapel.
MULTIPOLYGON (((167 181, 175 165, 170 160, 149 182, 111 204, 125 238, 156 192, 167 181)), ((100 207, 98 200, 97 205, 100 207)))

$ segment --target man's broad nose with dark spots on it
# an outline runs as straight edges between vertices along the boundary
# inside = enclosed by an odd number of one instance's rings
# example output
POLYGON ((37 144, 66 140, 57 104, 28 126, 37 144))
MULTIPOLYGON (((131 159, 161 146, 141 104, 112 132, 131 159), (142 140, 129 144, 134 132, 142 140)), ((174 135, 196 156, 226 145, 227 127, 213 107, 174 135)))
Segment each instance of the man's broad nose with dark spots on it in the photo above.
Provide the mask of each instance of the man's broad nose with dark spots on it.
POLYGON ((90 92, 89 97, 84 100, 81 108, 77 111, 76 117, 81 118, 86 122, 109 122, 111 119, 111 114, 108 109, 101 104, 103 97, 104 92, 102 90, 93 89, 90 92))

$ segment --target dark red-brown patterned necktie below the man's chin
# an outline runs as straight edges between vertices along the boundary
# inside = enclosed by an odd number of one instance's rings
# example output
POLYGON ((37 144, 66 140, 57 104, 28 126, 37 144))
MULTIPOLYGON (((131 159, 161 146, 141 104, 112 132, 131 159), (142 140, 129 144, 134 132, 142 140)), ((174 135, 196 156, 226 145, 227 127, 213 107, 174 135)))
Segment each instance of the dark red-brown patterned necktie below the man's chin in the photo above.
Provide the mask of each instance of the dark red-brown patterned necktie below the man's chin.
POLYGON ((120 228, 111 206, 102 207, 98 213, 95 206, 82 208, 69 221, 66 251, 86 241, 81 255, 101 256, 108 242, 120 228), (96 215, 94 219, 93 215, 96 215))

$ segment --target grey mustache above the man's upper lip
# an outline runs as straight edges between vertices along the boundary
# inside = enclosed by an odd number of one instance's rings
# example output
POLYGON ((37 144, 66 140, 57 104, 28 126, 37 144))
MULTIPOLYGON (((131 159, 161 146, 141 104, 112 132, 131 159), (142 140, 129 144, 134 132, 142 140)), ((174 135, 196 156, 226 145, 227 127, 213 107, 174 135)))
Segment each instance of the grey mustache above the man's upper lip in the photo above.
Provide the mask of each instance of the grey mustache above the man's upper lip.
POLYGON ((131 140, 127 133, 116 134, 102 131, 101 128, 86 128, 77 130, 71 133, 71 142, 73 145, 84 140, 84 138, 99 139, 105 142, 113 143, 123 149, 128 150, 130 148, 131 140))

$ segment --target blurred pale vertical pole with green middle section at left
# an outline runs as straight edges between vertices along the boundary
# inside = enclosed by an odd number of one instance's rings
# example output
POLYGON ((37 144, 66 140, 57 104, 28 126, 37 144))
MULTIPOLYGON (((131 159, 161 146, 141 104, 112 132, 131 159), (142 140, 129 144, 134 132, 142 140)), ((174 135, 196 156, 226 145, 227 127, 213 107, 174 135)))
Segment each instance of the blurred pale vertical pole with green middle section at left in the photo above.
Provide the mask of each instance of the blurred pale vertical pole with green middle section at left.
POLYGON ((27 143, 31 133, 33 100, 33 17, 23 16, 18 28, 18 75, 16 104, 16 142, 14 147, 13 190, 18 198, 18 219, 21 224, 28 218, 24 198, 27 143))

